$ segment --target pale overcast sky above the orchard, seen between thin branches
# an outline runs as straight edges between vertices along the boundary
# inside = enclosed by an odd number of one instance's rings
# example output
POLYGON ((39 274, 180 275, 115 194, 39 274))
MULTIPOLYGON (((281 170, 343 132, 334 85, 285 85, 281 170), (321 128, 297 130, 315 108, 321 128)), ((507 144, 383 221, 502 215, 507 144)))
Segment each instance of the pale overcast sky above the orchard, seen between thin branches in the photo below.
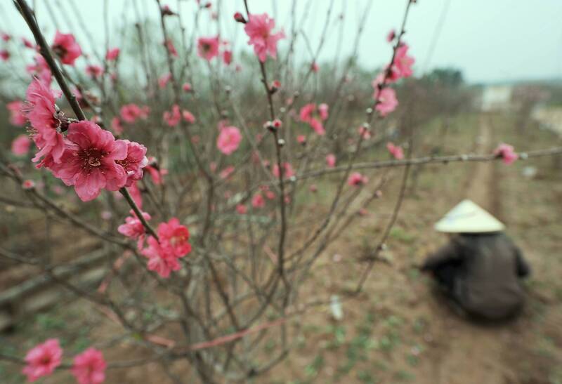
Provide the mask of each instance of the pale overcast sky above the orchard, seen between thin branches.
MULTIPOLYGON (((30 0, 28 0, 30 1, 30 0)), ((37 15, 41 27, 47 29, 48 39, 52 39, 54 25, 48 19, 44 6, 47 0, 35 1, 39 4, 37 15)), ((69 0, 48 0, 56 8, 57 4, 68 4, 69 0)), ((123 10, 126 9, 129 21, 134 19, 133 0, 110 0, 109 14, 112 30, 126 22, 123 10)), ((157 17, 154 0, 137 0, 143 15, 157 17)), ((298 0, 296 13, 301 19, 309 0, 298 0)), ((310 0, 308 18, 300 25, 311 45, 318 45, 320 32, 325 23, 327 9, 334 2, 332 22, 329 23, 328 39, 320 55, 320 62, 336 57, 339 24, 337 15, 344 13, 344 35, 341 56, 351 52, 358 28, 358 20, 367 2, 372 1, 367 15, 365 32, 360 42, 360 62, 367 68, 378 67, 390 58, 390 48, 384 41, 388 30, 400 26, 405 9, 405 0, 310 0)), ((91 34, 104 40, 103 0, 74 0, 79 4, 81 14, 86 20, 91 34)), ((204 2, 204 1, 202 1, 204 2)), ((30 1, 33 3, 33 1, 30 1)), ((166 4, 166 1, 163 1, 166 4)), ((217 0, 211 1, 214 9, 217 0)), ((172 9, 177 0, 169 0, 172 9)), ((181 1, 185 24, 189 25, 195 0, 181 1)), ((289 34, 292 0, 249 0, 254 13, 268 12, 275 15, 277 27, 289 34), (274 5, 275 4, 275 5, 274 5)), ((0 0, 0 29, 16 35, 31 37, 20 15, 9 0, 0 0)), ((235 46, 244 46, 246 37, 241 26, 233 22, 235 11, 243 10, 242 0, 221 1, 221 33, 223 38, 235 41, 235 46)), ((72 11, 67 9, 67 15, 72 11)), ((72 17, 70 23, 59 13, 59 23, 63 32, 70 32, 71 26, 78 25, 72 17)), ((216 25, 210 21, 209 13, 200 20, 200 34, 216 33, 216 25)), ((562 0, 418 0, 412 6, 407 22, 405 41, 416 58, 415 69, 421 73, 433 67, 458 67, 471 82, 511 81, 517 79, 550 79, 562 77, 562 0), (443 19, 441 19, 443 18, 443 19), (439 20, 443 20, 440 23, 439 20), (439 28, 440 25, 440 28, 439 28), (434 45, 434 49, 431 46, 434 45)), ((74 31, 72 31, 74 32, 74 31)), ((88 46, 84 34, 77 36, 86 50, 88 46)), ((112 45, 117 45, 117 37, 110 37, 112 45)), ((310 57, 303 40, 297 46, 299 57, 310 57)), ((286 48, 288 40, 280 41, 280 48, 286 48)))

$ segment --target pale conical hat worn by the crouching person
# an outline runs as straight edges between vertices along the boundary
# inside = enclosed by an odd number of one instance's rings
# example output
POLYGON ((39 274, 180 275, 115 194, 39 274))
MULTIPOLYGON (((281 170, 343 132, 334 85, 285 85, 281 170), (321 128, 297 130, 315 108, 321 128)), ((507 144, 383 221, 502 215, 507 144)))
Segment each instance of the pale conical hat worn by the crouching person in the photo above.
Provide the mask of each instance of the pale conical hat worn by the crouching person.
POLYGON ((470 200, 463 200, 439 220, 435 229, 449 233, 499 232, 505 225, 470 200))

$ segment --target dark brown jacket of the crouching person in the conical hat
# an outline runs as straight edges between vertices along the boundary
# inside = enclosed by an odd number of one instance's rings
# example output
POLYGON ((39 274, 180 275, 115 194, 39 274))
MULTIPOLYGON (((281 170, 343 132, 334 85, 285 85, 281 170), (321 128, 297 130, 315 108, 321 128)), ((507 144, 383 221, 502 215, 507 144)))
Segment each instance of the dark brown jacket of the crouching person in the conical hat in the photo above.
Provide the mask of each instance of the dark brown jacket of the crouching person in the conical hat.
POLYGON ((460 234, 427 258, 422 270, 454 266, 451 294, 464 309, 488 319, 515 313, 523 305, 518 277, 530 269, 503 233, 460 234))

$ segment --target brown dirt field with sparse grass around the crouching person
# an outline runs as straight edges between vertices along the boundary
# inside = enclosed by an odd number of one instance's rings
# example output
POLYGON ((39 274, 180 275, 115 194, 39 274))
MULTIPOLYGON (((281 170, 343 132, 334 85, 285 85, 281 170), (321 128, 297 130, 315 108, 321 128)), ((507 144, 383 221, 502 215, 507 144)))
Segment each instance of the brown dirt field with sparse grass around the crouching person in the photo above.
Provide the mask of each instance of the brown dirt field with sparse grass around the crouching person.
MULTIPOLYGON (((446 143, 440 122, 418 135, 417 151, 428 153, 490 152, 499 140, 516 150, 554 145, 556 136, 535 129, 517 137, 507 116, 460 116, 452 120, 446 143)), ((419 172, 418 172, 419 171, 419 172)), ((376 244, 396 196, 401 170, 384 199, 375 201, 355 227, 329 248, 313 269, 303 294, 329 298, 355 288, 364 264, 362 249, 376 244)), ((526 171, 528 173, 528 170, 526 171)), ((405 199, 384 256, 376 264, 358 298, 344 300, 344 319, 332 319, 328 307, 316 307, 295 322, 305 324, 296 349, 254 383, 562 383, 562 173, 553 159, 424 166, 405 199), (522 176, 527 166, 533 178, 522 176), (433 223, 453 205, 470 198, 507 224, 521 246, 533 274, 525 283, 528 305, 521 317, 497 326, 471 324, 433 296, 432 284, 414 267, 445 242, 433 223)), ((112 326, 96 312, 84 316, 84 305, 53 309, 22 322, 12 335, 0 335, 1 350, 22 355, 44 335, 60 337, 68 349, 91 340, 108 357, 138 356, 135 347, 112 340, 112 326), (77 318, 86 318, 77 322, 77 318), (65 330, 83 330, 65 338, 65 330), (129 355, 131 354, 131 356, 129 355)), ((181 368, 175 369, 183 374, 181 368)), ((191 377, 191 376, 190 376, 191 377)), ((0 363, 0 383, 21 383, 13 366, 0 363)), ((188 380, 188 378, 184 378, 188 380)), ((68 373, 44 383, 72 383, 68 373)), ((173 383, 158 364, 108 372, 107 383, 173 383)), ((197 382, 193 379, 189 382, 197 382)))

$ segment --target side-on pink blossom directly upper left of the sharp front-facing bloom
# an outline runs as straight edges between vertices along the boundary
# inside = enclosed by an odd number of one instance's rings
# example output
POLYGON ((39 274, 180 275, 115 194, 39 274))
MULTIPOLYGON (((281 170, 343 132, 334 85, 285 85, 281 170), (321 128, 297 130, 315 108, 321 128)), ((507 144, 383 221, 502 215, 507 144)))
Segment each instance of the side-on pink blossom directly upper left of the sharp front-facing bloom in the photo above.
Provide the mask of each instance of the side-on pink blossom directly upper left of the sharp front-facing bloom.
POLYGON ((55 117, 58 107, 55 106, 53 93, 37 79, 33 79, 26 92, 25 114, 34 128, 32 138, 39 148, 33 161, 37 162, 41 157, 45 157, 39 166, 51 161, 60 162, 65 150, 63 135, 59 131, 60 120, 55 117))

